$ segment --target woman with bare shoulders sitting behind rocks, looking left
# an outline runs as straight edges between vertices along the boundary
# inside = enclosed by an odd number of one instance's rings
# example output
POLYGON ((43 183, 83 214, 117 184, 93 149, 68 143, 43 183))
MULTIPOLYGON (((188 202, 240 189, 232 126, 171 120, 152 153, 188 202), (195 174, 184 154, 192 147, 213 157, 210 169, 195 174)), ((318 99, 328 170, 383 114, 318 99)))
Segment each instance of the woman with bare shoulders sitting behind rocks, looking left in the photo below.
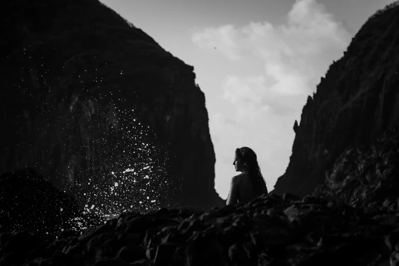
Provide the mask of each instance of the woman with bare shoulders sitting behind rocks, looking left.
POLYGON ((233 165, 236 172, 241 172, 231 178, 227 205, 238 202, 249 202, 262 194, 268 194, 266 182, 260 172, 256 153, 242 147, 235 150, 233 165))

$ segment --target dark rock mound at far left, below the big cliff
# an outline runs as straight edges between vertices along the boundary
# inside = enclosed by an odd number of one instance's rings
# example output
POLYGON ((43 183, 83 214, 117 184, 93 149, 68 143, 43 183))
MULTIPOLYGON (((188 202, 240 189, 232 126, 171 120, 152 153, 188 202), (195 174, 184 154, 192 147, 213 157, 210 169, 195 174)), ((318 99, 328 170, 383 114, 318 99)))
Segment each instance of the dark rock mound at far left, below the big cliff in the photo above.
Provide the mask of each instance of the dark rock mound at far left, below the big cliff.
POLYGON ((79 208, 67 193, 32 169, 0 175, 0 232, 24 228, 56 237, 61 231, 103 224, 107 219, 79 208))

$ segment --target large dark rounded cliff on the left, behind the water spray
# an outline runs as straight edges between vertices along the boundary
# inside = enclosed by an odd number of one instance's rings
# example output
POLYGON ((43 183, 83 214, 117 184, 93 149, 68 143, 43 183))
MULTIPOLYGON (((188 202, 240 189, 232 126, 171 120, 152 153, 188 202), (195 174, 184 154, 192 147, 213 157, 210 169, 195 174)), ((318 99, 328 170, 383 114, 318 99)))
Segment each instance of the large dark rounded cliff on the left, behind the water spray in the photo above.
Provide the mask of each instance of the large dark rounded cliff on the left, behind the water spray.
POLYGON ((155 198, 225 204, 192 66, 95 0, 17 1, 4 14, 0 172, 33 168, 81 206, 119 213, 155 198))

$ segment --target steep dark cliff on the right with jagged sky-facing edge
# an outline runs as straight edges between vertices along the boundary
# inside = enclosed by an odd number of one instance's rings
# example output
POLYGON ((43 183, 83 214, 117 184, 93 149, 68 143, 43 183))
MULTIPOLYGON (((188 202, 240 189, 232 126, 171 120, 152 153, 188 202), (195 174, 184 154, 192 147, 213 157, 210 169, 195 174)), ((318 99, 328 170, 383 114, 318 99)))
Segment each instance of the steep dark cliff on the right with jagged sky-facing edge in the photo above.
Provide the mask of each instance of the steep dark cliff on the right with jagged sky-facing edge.
POLYGON ((304 196, 324 183, 339 155, 369 145, 399 118, 399 5, 371 16, 308 97, 292 155, 273 193, 304 196))

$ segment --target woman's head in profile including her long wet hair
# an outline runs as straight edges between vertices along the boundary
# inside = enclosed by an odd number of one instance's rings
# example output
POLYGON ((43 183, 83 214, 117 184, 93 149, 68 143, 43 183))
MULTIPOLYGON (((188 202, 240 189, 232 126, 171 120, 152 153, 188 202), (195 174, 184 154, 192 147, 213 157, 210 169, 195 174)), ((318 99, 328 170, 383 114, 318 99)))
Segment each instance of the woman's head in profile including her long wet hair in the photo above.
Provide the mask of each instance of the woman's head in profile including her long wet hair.
POLYGON ((249 174, 255 189, 262 193, 264 191, 267 193, 266 182, 260 172, 256 153, 251 148, 241 147, 235 149, 233 165, 235 171, 249 174))

